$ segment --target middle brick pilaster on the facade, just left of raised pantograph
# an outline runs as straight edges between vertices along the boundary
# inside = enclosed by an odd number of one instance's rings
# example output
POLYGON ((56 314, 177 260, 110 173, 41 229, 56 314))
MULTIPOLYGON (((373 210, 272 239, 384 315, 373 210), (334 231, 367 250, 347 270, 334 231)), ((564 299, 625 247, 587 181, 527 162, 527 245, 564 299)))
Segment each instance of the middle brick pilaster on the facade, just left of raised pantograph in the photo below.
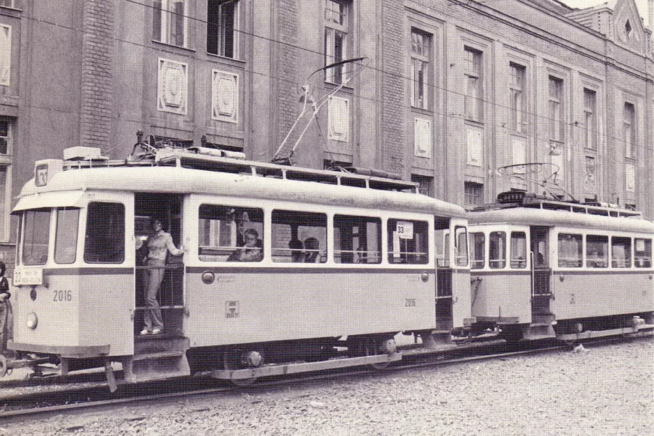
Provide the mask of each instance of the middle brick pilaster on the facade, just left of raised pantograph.
MULTIPOLYGON (((279 112, 277 141, 271 144, 276 150, 284 136, 293 126, 298 115, 298 29, 301 25, 298 17, 298 4, 296 0, 280 0, 279 14, 277 15, 279 44, 279 61, 277 62, 277 89, 279 92, 279 112)), ((288 156, 298 135, 291 135, 287 148, 280 151, 280 156, 288 156)))

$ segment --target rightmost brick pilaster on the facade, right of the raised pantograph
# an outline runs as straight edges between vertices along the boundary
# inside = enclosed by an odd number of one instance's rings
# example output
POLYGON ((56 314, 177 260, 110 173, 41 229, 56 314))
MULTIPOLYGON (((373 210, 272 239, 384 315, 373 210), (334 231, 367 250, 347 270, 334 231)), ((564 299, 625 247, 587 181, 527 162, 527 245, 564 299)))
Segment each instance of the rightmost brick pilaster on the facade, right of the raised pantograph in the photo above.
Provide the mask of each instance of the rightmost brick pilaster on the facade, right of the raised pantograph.
POLYGON ((385 0, 382 10, 383 59, 382 144, 383 170, 403 174, 404 146, 404 1, 385 0))

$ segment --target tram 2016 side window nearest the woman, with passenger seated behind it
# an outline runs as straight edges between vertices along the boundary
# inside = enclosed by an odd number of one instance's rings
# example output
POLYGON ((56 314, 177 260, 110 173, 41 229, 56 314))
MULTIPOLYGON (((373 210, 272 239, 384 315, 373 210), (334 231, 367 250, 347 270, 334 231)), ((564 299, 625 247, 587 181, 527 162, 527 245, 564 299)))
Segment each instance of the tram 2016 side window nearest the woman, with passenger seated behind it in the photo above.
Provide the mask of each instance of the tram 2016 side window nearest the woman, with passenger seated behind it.
POLYGON ((198 256, 201 261, 261 262, 264 250, 264 211, 250 207, 202 204, 198 236, 198 256), (254 232, 250 230, 256 232, 257 241, 253 241, 254 232), (254 247, 241 256, 246 237, 250 237, 254 247))

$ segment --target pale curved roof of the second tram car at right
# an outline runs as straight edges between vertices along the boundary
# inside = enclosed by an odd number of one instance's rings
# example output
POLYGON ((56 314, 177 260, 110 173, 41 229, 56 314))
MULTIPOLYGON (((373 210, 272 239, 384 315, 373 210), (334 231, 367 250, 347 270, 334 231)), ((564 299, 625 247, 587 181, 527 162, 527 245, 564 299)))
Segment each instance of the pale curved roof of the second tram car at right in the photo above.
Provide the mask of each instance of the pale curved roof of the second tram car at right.
POLYGON ((533 225, 545 227, 579 227, 592 230, 654 232, 654 223, 634 217, 600 216, 571 211, 512 207, 468 214, 471 225, 533 225))

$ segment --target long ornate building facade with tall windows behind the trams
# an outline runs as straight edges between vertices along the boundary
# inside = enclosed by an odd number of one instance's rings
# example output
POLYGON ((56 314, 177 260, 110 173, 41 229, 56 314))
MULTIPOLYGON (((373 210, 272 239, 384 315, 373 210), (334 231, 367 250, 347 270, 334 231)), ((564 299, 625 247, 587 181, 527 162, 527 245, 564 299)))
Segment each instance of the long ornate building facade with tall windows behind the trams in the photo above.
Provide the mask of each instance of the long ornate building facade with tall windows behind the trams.
POLYGON ((653 73, 633 0, 0 0, 0 241, 35 160, 124 158, 137 130, 654 218, 653 73))

